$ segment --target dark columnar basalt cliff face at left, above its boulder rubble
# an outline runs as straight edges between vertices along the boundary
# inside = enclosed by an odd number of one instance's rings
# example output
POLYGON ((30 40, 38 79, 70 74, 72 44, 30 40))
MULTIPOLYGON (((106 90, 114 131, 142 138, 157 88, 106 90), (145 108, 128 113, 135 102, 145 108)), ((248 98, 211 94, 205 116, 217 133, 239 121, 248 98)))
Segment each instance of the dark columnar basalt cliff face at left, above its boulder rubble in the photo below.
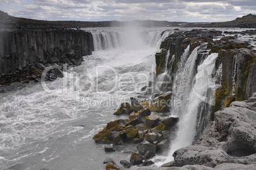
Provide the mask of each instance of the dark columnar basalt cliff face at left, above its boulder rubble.
POLYGON ((92 34, 85 31, 1 31, 0 74, 13 73, 39 62, 76 65, 92 50, 92 34))

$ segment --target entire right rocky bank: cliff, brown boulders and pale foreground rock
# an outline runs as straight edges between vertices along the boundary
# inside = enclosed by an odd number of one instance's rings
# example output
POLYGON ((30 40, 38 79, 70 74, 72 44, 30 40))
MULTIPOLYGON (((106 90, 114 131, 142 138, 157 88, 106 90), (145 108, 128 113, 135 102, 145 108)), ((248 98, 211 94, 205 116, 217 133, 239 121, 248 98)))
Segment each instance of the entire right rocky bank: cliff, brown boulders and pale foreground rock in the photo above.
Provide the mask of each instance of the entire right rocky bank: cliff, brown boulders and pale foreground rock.
MULTIPOLYGON (((163 169, 227 167, 253 169, 255 167, 255 152, 254 149, 249 149, 253 148, 255 143, 253 117, 255 117, 256 94, 253 92, 256 91, 256 81, 253 75, 256 74, 256 55, 255 37, 252 35, 255 35, 255 30, 177 31, 162 42, 160 47, 162 50, 155 55, 157 76, 165 73, 167 66, 168 74, 173 79, 185 50, 188 49, 188 53, 192 53, 197 49, 196 67, 211 53, 218 54, 215 72, 211 77, 215 77, 215 83, 219 85, 217 89, 209 89, 209 94, 212 91, 215 96, 215 103, 213 105, 201 103, 199 106, 194 145, 177 150, 173 155, 174 162, 164 165, 168 168, 163 167, 163 169), (241 35, 247 35, 250 39, 241 39, 241 35), (167 53, 173 57, 167 56, 167 53), (243 101, 245 99, 247 101, 243 101), (223 108, 225 110, 222 110, 223 108), (243 129, 243 132, 248 131, 248 134, 241 134, 239 129, 243 129)), ((173 81, 169 81, 165 90, 167 92, 164 94, 154 94, 153 100, 136 101, 136 107, 133 98, 131 103, 123 103, 114 115, 127 114, 127 120, 110 122, 103 131, 94 136, 94 140, 101 143, 114 145, 139 143, 138 152, 131 153, 130 162, 127 160, 120 162, 124 167, 150 166, 153 164, 150 159, 155 153, 169 149, 176 128, 173 123, 177 122, 178 118, 170 117, 172 108, 162 103, 171 101, 173 81)), ((122 169, 113 160, 107 162, 106 169, 122 169)), ((139 167, 139 169, 143 168, 139 167)))

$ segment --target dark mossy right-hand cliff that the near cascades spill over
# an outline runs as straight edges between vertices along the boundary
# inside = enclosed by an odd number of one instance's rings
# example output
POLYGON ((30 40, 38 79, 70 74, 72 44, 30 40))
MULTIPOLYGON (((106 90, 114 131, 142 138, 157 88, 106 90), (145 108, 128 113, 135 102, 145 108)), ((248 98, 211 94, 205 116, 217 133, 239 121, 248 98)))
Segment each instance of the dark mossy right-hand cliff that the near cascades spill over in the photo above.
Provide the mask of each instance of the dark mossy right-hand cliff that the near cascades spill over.
MULTIPOLYGON (((215 92, 214 111, 228 107, 232 101, 243 101, 256 92, 256 55, 253 46, 248 41, 238 39, 238 34, 255 34, 256 31, 225 32, 222 31, 200 31, 174 32, 167 37, 160 48, 162 52, 156 53, 155 61, 157 64, 157 75, 162 74, 167 65, 171 78, 178 69, 181 55, 189 45, 189 52, 201 46, 197 50, 196 67, 211 53, 218 53, 215 64, 216 84, 220 85, 215 92), (228 35, 227 35, 228 34, 228 35), (213 41, 214 38, 219 38, 213 41), (174 60, 166 56, 174 55, 174 60), (166 60, 168 58, 168 60, 166 60), (167 62, 167 64, 166 64, 167 62), (216 71, 220 70, 220 75, 216 71)), ((255 40, 254 40, 255 41, 255 40)), ((182 63, 181 63, 182 64, 182 63)), ((213 77, 213 76, 212 76, 213 77)), ((172 88, 170 81, 169 89, 172 88)))

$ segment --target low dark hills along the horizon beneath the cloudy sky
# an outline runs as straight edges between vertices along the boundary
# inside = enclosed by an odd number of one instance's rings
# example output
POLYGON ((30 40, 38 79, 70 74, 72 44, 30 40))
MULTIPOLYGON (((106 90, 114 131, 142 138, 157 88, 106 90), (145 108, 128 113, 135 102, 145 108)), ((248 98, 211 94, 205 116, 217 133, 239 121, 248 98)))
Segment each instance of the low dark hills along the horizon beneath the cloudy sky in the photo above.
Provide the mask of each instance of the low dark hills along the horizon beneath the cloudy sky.
POLYGON ((47 20, 32 20, 28 18, 18 18, 8 15, 0 11, 0 29, 17 29, 20 26, 22 29, 49 29, 50 27, 60 29, 61 26, 69 28, 76 27, 117 27, 124 25, 141 25, 145 27, 256 27, 256 15, 246 15, 236 20, 228 22, 213 22, 213 23, 193 23, 193 22, 168 22, 155 20, 136 20, 131 22, 119 21, 98 21, 98 22, 84 22, 84 21, 47 21, 47 20))

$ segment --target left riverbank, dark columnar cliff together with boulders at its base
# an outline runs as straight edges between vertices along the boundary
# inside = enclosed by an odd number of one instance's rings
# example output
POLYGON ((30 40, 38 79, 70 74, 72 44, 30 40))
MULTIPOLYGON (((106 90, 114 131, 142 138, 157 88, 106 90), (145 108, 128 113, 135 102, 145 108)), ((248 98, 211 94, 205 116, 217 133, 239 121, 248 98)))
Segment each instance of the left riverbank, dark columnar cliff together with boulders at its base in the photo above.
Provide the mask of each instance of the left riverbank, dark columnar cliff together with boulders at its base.
POLYGON ((45 69, 52 81, 94 50, 92 34, 80 30, 1 31, 0 39, 0 85, 39 81, 45 69))

